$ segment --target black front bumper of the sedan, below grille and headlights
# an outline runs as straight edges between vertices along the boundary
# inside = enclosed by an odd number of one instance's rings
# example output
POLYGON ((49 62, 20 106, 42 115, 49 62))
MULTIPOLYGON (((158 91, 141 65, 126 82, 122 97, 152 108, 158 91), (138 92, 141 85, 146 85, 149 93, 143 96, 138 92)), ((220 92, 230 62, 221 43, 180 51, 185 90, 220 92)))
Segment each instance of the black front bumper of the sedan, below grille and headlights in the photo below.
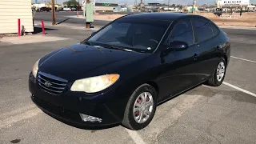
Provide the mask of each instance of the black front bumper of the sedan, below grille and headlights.
POLYGON ((32 101, 44 112, 60 121, 75 126, 110 126, 122 122, 128 99, 120 97, 115 90, 104 94, 86 95, 66 90, 53 95, 41 90, 33 74, 30 74, 29 89, 32 101), (102 122, 84 122, 80 114, 101 118, 102 122))

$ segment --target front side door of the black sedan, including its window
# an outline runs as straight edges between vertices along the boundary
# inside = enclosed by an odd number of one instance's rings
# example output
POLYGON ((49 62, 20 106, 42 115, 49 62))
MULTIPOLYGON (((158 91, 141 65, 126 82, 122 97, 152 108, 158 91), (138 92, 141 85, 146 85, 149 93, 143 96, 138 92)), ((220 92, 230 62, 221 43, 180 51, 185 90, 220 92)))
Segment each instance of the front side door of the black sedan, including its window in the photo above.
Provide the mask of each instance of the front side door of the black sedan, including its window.
POLYGON ((190 19, 185 19, 175 24, 166 45, 170 42, 182 41, 189 48, 182 51, 172 51, 162 57, 163 73, 158 78, 161 94, 160 101, 170 95, 178 94, 198 83, 197 59, 194 57, 198 46, 194 44, 194 32, 190 19))

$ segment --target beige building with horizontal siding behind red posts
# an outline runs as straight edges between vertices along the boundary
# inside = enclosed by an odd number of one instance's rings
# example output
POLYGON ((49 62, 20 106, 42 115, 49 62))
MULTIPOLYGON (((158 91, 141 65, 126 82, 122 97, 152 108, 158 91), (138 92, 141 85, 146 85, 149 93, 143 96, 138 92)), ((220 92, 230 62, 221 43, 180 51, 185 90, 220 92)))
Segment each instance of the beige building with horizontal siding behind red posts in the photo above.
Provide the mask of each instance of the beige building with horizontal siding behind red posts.
POLYGON ((18 33, 18 18, 21 29, 33 32, 31 0, 0 0, 0 34, 18 33))

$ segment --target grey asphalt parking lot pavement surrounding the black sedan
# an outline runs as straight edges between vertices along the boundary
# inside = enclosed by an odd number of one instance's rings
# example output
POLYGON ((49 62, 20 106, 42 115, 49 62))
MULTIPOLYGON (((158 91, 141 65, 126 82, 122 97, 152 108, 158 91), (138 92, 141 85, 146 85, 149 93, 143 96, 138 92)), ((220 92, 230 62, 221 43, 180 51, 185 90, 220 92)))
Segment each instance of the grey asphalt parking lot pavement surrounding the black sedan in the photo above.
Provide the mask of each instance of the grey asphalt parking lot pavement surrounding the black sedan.
POLYGON ((122 126, 78 129, 51 118, 30 100, 27 82, 34 62, 82 41, 90 30, 50 26, 46 36, 67 39, 0 42, 0 143, 256 143, 256 31, 223 30, 230 35, 232 57, 222 86, 198 86, 163 103, 150 125, 139 131, 122 126))

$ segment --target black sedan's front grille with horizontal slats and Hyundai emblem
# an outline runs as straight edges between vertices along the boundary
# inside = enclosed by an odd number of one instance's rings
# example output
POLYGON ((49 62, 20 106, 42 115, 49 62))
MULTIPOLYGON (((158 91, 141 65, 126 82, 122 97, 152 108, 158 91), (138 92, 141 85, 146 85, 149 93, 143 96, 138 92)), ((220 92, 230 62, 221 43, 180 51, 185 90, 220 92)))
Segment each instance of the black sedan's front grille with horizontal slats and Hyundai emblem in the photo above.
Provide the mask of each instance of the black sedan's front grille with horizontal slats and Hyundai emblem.
POLYGON ((38 85, 41 90, 49 94, 62 94, 66 88, 67 81, 63 78, 58 78, 50 74, 38 72, 38 85))

